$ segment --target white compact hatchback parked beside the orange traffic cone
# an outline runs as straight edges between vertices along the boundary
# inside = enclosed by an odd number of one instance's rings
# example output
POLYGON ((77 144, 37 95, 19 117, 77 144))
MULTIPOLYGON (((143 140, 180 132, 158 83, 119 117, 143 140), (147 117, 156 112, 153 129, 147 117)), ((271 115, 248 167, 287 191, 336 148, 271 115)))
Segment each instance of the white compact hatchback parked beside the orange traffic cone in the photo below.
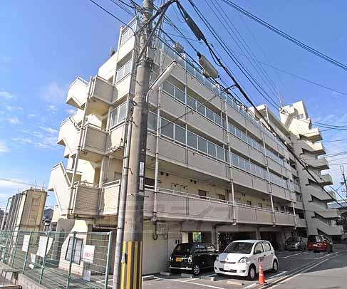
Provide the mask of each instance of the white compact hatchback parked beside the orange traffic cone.
POLYGON ((260 265, 264 271, 277 272, 279 260, 271 243, 262 240, 239 240, 229 243, 224 252, 219 254, 214 261, 214 272, 218 275, 237 275, 254 280, 260 265))

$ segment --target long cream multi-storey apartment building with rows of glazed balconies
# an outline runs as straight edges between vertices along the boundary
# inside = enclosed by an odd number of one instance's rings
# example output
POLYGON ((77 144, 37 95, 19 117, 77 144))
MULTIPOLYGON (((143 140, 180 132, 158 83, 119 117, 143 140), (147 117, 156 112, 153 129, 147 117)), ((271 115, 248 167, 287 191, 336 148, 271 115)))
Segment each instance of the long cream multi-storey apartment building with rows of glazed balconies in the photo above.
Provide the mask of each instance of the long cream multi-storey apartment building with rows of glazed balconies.
MULTIPOLYGON (((135 21, 130 26, 136 30, 135 21)), ((76 113, 58 135, 67 162, 52 168, 49 182, 57 231, 117 226, 136 47, 131 29, 121 28, 118 51, 97 75, 77 78, 68 90, 66 103, 76 113)), ((296 182, 300 175, 286 147, 187 56, 162 39, 155 48, 152 80, 172 60, 178 65, 149 97, 143 273, 165 270, 180 242, 224 248, 238 238, 266 238, 283 246, 288 236, 306 234, 304 183, 296 182)))

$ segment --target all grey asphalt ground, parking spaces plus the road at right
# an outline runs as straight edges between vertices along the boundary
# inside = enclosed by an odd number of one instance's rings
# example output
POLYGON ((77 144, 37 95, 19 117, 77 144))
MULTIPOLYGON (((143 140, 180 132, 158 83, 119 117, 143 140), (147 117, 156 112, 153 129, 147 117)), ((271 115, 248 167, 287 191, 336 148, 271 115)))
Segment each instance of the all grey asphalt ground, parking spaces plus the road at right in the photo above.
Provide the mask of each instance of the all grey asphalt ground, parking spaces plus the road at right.
MULTIPOLYGON (((347 251, 331 254, 281 251, 276 252, 276 256, 279 258, 279 271, 277 273, 265 272, 266 281, 270 284, 267 288, 347 289, 347 251), (311 268, 311 266, 314 267, 311 268), (305 270, 306 272, 302 275, 301 271, 305 270), (331 285, 329 287, 328 284, 332 280, 336 286, 340 287, 331 285)), ((182 277, 180 274, 171 276, 157 274, 155 279, 143 281, 143 289, 171 288, 259 289, 262 286, 258 285, 257 281, 248 281, 241 277, 217 276, 213 270, 203 271, 201 275, 192 278, 182 277), (216 280, 210 280, 210 277, 215 277, 216 280)))

